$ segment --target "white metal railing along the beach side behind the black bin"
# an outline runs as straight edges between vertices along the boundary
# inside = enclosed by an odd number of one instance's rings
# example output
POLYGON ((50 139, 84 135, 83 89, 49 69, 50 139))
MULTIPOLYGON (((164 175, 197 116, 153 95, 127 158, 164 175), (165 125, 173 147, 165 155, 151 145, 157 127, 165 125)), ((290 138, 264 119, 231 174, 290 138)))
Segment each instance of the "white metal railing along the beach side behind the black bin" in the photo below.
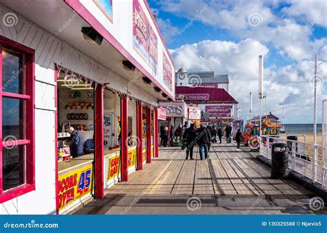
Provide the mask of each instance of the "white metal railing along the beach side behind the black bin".
POLYGON ((288 168, 299 172, 302 176, 311 179, 313 183, 320 183, 323 188, 327 188, 326 179, 326 154, 322 146, 315 148, 313 143, 306 143, 303 135, 262 135, 260 140, 260 155, 271 160, 271 148, 273 143, 286 143, 288 146, 288 168), (299 141, 288 140, 286 136, 298 136, 299 141), (314 153, 317 150, 318 159, 313 163, 314 153))

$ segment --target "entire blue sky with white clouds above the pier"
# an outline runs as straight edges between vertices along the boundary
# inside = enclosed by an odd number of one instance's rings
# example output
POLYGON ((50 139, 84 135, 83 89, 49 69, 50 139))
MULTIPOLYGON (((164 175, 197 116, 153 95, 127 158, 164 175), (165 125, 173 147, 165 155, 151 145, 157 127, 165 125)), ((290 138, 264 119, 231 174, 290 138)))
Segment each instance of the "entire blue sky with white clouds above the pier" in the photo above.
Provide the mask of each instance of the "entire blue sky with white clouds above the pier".
MULTIPOLYGON (((241 115, 259 114, 258 56, 264 55, 268 112, 313 123, 315 53, 327 60, 327 1, 149 0, 175 61, 189 71, 228 74, 241 115)), ((318 68, 318 117, 327 99, 327 62, 318 68)), ((264 109, 264 106, 263 106, 264 109)), ((264 110, 263 110, 264 112, 264 110)))

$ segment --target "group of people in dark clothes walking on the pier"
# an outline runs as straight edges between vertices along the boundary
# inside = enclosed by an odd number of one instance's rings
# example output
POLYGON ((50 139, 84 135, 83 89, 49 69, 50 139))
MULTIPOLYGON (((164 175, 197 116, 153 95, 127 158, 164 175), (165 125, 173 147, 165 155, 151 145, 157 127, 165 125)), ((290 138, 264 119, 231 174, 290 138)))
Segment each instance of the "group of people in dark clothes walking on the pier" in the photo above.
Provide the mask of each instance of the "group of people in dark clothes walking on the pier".
MULTIPOLYGON (((170 133, 168 133, 168 127, 161 125, 160 145, 168 146, 168 140, 172 144, 175 140, 180 139, 182 141, 182 149, 186 148, 186 159, 190 158, 191 160, 193 159, 194 146, 199 145, 200 159, 203 160, 209 158, 208 152, 212 143, 217 143, 217 139, 221 143, 224 133, 226 135, 226 143, 231 143, 232 127, 229 124, 225 128, 222 128, 221 125, 204 126, 200 124, 200 127, 196 129, 194 124, 190 124, 190 127, 188 127, 188 122, 186 121, 184 125, 179 124, 176 129, 171 125, 170 133), (170 139, 168 139, 169 135, 170 139)), ((241 138, 241 132, 237 130, 237 148, 240 146, 241 138)))

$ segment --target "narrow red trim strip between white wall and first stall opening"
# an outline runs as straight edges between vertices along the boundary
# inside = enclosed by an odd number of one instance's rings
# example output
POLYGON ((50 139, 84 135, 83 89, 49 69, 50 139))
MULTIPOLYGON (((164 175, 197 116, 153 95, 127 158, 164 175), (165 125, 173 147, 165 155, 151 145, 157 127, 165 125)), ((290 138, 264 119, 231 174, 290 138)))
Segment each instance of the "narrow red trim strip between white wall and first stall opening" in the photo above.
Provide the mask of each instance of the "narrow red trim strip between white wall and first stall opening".
MULTIPOLYGON (((57 83, 57 65, 54 65, 54 82, 57 83)), ((59 214, 59 186, 58 186, 58 85, 54 87, 54 183, 56 190, 56 214, 59 214)))

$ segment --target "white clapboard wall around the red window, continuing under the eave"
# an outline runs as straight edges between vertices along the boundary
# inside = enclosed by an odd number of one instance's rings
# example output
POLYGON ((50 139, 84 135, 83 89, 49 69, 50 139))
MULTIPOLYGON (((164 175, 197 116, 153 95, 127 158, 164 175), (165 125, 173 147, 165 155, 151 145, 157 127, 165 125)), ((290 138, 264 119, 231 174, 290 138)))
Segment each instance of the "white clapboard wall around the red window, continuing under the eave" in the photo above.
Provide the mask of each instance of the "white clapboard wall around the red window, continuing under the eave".
MULTIPOLYGON (((0 19, 8 12, 13 11, 0 3, 0 19)), ((117 90, 127 85, 128 80, 28 19, 20 15, 17 17, 17 24, 11 27, 3 25, 3 20, 0 20, 0 35, 35 50, 36 191, 0 204, 0 214, 55 214, 54 92, 57 84, 54 82, 54 64, 62 65, 88 79, 110 83, 110 87, 117 90)), ((155 97, 149 96, 137 86, 132 85, 130 90, 137 93, 136 98, 157 105, 155 97)))

